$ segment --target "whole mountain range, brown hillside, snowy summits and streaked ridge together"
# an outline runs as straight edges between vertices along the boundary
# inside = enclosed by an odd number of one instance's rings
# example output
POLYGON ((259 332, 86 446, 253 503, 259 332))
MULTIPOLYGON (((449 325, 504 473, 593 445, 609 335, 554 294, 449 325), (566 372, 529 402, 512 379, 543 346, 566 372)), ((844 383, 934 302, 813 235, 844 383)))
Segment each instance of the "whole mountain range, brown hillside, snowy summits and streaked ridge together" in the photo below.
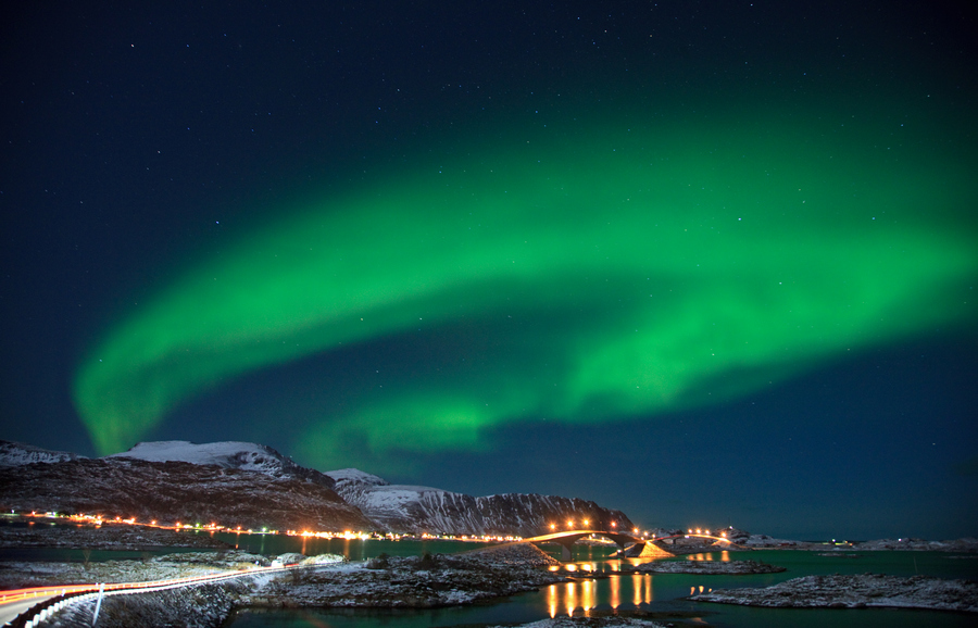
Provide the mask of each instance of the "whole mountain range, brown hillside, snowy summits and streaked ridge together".
POLYGON ((8 443, 0 507, 89 513, 242 528, 518 535, 582 527, 630 529, 619 511, 539 494, 476 498, 390 485, 358 469, 323 474, 249 442, 141 442, 104 459, 8 443))

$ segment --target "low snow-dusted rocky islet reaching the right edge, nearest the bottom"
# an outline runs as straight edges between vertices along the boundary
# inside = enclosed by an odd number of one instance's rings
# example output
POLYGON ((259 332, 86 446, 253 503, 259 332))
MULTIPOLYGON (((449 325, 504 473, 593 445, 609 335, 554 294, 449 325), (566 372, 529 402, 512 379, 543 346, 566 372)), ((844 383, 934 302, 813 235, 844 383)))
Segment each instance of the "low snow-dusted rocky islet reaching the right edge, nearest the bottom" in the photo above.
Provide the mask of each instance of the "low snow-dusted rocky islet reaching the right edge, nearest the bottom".
POLYGON ((795 608, 899 607, 978 613, 978 582, 878 574, 804 576, 764 589, 720 589, 697 602, 795 608))

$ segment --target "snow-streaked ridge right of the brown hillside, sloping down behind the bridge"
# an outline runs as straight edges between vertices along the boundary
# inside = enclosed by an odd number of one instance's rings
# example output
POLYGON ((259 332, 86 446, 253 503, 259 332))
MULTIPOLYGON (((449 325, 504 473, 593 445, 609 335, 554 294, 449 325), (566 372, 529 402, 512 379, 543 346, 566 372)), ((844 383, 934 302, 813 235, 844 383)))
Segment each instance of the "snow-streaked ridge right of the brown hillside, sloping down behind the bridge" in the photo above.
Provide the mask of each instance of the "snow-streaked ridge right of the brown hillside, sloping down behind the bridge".
POLYGON ((519 535, 530 537, 563 527, 573 519, 584 527, 631 529, 619 511, 603 508, 591 501, 506 493, 476 498, 442 489, 391 485, 359 469, 327 472, 336 480, 334 489, 379 529, 398 532, 451 535, 519 535))

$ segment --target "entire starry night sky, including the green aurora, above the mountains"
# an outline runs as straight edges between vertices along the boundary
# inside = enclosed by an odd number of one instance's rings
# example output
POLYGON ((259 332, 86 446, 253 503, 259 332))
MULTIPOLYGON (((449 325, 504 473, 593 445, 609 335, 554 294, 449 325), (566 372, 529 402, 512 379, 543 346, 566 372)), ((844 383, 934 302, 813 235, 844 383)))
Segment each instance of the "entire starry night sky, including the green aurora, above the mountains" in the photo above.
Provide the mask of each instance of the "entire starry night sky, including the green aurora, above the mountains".
POLYGON ((967 3, 313 4, 0 20, 0 438, 978 535, 967 3))

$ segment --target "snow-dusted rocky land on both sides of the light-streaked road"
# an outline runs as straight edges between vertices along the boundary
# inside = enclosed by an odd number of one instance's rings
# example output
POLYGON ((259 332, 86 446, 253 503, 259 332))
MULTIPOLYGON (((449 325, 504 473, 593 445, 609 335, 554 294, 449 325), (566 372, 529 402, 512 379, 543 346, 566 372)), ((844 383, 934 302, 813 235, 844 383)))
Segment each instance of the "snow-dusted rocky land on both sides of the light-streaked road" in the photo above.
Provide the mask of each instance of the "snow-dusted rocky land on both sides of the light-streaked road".
MULTIPOLYGON (((283 563, 300 561, 293 554, 283 563)), ((18 578, 34 582, 136 581, 241 568, 267 557, 227 553, 184 553, 145 563, 115 561, 73 564, 22 564, 18 578), (67 570, 65 570, 67 569, 67 570)), ((246 575, 231 580, 167 591, 106 596, 99 614, 103 628, 179 625, 222 626, 241 607, 435 607, 471 604, 499 595, 535 590, 563 578, 543 567, 559 564, 532 545, 502 545, 461 555, 379 556, 350 564, 324 555, 300 561, 301 568, 279 574, 246 575)), ((90 626, 95 603, 68 606, 49 623, 55 628, 90 626)), ((566 624, 580 626, 581 624, 566 624)), ((655 626, 654 624, 586 624, 587 626, 655 626)), ((564 626, 554 624, 553 626, 564 626)))

